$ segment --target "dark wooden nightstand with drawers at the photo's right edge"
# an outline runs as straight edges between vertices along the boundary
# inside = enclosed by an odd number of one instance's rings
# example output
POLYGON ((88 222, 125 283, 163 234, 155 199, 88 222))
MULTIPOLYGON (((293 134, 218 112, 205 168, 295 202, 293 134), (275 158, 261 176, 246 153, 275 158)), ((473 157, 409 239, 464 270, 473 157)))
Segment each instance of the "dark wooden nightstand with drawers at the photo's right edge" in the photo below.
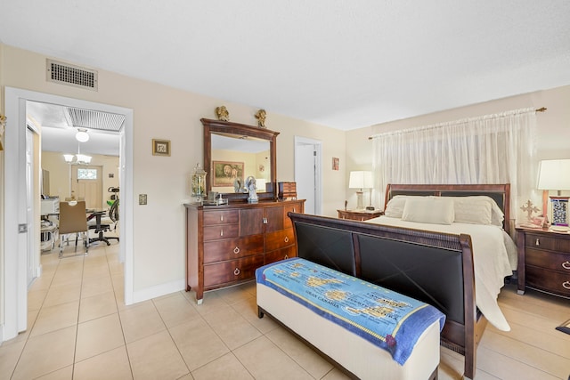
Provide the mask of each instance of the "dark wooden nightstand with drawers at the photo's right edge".
POLYGON ((570 234, 517 227, 518 286, 570 298, 570 234))

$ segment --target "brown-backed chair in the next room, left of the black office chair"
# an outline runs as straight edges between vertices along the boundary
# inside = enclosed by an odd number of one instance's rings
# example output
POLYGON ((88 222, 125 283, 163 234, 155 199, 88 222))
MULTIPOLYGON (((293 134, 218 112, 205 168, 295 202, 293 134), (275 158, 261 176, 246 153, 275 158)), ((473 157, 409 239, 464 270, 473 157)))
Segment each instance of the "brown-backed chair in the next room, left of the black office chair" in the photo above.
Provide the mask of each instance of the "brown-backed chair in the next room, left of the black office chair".
MULTIPOLYGON (((60 258, 63 256, 63 237, 70 233, 75 233, 75 251, 77 252, 77 240, 79 234, 84 235, 85 253, 79 255, 87 255, 89 252, 89 228, 87 227, 87 218, 85 216, 85 200, 60 202, 60 258)), ((69 237, 68 244, 69 244, 69 237)))

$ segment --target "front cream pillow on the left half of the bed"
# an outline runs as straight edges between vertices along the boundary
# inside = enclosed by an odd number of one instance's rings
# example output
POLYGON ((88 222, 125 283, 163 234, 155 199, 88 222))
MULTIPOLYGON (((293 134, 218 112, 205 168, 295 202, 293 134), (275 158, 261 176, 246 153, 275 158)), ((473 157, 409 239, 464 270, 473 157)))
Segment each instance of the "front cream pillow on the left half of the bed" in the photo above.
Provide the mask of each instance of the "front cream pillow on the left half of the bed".
POLYGON ((453 200, 442 197, 409 197, 403 206, 402 220, 431 224, 452 224, 453 200))

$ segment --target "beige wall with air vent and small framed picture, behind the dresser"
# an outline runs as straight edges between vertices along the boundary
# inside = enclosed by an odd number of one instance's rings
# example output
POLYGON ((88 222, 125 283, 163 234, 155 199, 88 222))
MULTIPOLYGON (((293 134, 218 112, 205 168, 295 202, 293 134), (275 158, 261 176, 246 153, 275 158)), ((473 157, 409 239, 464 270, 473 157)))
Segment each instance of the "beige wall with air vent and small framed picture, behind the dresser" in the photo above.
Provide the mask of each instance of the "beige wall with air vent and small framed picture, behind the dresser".
MULTIPOLYGON (((97 92, 45 80, 44 55, 0 44, 0 85, 29 91, 95 101, 134 109, 134 181, 131 190, 148 195, 148 205, 134 205, 134 291, 182 283, 185 267, 185 219, 183 203, 190 199, 193 167, 202 162, 200 117, 215 118, 214 109, 224 104, 232 121, 256 125, 256 107, 236 104, 196 93, 157 85, 102 69, 97 92), (151 154, 151 140, 171 142, 171 156, 151 154)), ((49 57, 57 59, 57 57, 49 57)), ((88 66, 85 62, 69 62, 88 66)), ((96 68, 94 68, 96 69, 96 68)), ((3 102, 4 105, 4 102, 3 102)), ((276 115, 267 109, 266 125, 281 132, 277 139, 278 181, 294 181, 295 135, 322 141, 324 214, 335 214, 345 197, 343 172, 332 172, 331 157, 345 158, 345 133, 326 126, 276 115), (327 191, 332 185, 335 191, 327 191)), ((2 158, 0 158, 2 159, 2 158)), ((121 196, 125 190, 121 190, 121 196)), ((8 200, 9 201, 9 200, 8 200)))

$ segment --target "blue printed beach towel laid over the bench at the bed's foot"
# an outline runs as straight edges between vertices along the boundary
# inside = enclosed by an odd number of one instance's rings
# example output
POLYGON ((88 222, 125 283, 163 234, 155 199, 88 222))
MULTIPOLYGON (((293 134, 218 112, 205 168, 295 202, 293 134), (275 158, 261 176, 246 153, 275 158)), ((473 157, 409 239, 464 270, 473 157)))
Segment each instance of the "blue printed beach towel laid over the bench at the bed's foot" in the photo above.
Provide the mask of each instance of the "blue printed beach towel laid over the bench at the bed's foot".
POLYGON ((444 327, 445 315, 428 303, 301 258, 258 268, 256 281, 387 350, 401 365, 426 328, 438 319, 444 327))

